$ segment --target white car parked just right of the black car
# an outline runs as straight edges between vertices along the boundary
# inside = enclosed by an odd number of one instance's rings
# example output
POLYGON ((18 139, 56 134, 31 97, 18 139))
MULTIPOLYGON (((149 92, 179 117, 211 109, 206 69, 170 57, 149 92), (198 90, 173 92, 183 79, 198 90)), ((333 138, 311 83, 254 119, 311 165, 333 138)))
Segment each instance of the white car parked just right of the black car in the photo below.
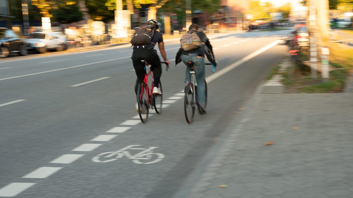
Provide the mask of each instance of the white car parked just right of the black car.
POLYGON ((48 50, 63 51, 67 49, 67 37, 62 32, 56 31, 38 31, 27 39, 29 49, 35 49, 40 53, 48 50))

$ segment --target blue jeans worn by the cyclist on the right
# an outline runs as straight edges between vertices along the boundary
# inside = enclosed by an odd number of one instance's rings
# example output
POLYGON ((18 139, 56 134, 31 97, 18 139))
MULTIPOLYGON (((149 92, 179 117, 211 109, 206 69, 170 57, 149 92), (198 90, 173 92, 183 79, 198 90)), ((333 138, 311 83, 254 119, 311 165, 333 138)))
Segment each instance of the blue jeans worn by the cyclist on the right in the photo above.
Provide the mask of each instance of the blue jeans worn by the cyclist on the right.
MULTIPOLYGON (((203 57, 198 58, 196 54, 189 54, 189 55, 181 55, 181 61, 184 64, 188 65, 187 62, 192 61, 194 62, 194 71, 196 74, 196 83, 197 83, 197 100, 199 103, 205 104, 205 60, 203 57)), ((191 67, 186 67, 185 70, 185 82, 191 81, 191 67)))

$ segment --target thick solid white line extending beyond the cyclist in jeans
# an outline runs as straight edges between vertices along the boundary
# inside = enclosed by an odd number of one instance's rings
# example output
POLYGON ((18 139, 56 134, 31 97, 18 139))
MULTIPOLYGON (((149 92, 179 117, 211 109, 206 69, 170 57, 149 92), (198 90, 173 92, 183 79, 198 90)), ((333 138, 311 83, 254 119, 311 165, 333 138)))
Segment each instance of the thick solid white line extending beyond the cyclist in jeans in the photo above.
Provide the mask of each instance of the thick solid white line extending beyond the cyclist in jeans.
POLYGON ((276 40, 268 45, 266 45, 265 47, 261 48, 261 49, 258 49, 254 52, 252 52, 251 54, 245 56, 244 58, 241 58, 239 61, 237 62, 234 62, 230 65, 228 65, 227 67, 219 70, 218 72, 214 73, 214 74, 211 74, 209 76, 206 77, 206 81, 209 83, 217 78, 219 78, 220 76, 228 73, 229 71, 231 71, 232 69, 238 67, 239 65, 245 63, 246 61, 249 61, 251 60, 252 58, 258 56, 259 54, 261 54, 262 52, 274 47, 275 45, 277 45, 278 43, 280 42, 280 40, 276 40))

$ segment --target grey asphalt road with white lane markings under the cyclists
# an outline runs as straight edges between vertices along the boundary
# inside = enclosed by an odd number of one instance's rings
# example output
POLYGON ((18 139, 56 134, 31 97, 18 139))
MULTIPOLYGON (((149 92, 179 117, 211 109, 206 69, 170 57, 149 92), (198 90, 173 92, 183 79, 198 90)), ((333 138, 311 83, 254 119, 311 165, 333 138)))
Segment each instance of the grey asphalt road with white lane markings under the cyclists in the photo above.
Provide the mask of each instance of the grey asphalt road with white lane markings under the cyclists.
MULTIPOLYGON (((207 115, 192 124, 180 92, 185 66, 174 61, 163 69, 162 114, 139 122, 130 45, 1 60, 0 197, 173 197, 286 54, 277 39, 289 32, 210 35, 219 66, 214 74, 206 68, 207 115), (138 159, 99 157, 130 145, 157 148, 138 159)), ((165 43, 173 60, 179 40, 165 43)))

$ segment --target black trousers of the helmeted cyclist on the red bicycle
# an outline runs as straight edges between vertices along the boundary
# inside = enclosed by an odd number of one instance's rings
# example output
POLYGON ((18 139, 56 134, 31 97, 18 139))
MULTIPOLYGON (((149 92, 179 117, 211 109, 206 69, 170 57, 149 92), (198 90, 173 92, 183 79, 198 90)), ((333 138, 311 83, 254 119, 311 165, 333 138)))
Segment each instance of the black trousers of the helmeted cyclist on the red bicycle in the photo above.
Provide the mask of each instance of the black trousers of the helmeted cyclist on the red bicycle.
POLYGON ((154 84, 155 87, 157 87, 162 75, 161 60, 159 59, 157 51, 153 48, 148 49, 148 47, 134 47, 131 59, 137 76, 135 93, 137 94, 138 85, 143 81, 143 78, 145 77, 144 63, 141 62, 141 59, 145 59, 148 64, 151 65, 151 70, 153 71, 154 75, 154 84))

